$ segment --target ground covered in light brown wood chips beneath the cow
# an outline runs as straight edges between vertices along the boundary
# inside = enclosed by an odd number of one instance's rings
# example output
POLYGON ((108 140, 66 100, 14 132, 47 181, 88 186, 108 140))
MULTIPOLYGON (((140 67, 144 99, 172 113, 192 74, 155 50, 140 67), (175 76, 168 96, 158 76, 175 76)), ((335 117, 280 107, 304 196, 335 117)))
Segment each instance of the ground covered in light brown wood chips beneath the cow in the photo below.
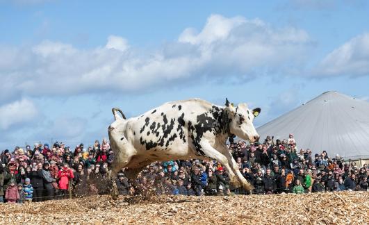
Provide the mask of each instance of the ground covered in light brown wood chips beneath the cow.
POLYGON ((369 192, 3 203, 0 224, 369 224, 369 192))

